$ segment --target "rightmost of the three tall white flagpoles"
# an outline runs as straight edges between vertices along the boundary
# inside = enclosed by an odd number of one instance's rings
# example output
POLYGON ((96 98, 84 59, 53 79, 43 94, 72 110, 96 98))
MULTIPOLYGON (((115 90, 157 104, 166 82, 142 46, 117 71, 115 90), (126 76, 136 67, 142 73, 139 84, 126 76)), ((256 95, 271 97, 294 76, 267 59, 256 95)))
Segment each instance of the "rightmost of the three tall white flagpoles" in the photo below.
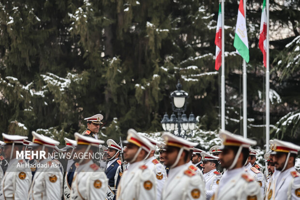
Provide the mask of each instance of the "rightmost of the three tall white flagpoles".
POLYGON ((270 140, 270 60, 269 60, 269 0, 266 0, 266 11, 267 11, 267 66, 266 66, 266 150, 269 151, 269 140, 270 140))

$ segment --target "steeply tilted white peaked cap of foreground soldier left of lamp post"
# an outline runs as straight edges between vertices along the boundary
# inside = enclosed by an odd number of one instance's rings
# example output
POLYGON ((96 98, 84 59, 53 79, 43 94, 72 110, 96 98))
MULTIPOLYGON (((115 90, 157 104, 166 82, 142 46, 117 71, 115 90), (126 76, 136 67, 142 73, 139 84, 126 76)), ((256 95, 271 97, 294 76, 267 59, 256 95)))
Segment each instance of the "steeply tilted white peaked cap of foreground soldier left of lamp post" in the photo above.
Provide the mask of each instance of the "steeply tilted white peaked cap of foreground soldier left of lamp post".
POLYGON ((127 142, 133 143, 133 144, 137 145, 138 147, 141 147, 146 152, 155 150, 155 146, 152 145, 148 139, 143 138, 140 135, 138 135, 137 132, 135 131, 135 129, 132 129, 132 128, 127 131, 127 142))

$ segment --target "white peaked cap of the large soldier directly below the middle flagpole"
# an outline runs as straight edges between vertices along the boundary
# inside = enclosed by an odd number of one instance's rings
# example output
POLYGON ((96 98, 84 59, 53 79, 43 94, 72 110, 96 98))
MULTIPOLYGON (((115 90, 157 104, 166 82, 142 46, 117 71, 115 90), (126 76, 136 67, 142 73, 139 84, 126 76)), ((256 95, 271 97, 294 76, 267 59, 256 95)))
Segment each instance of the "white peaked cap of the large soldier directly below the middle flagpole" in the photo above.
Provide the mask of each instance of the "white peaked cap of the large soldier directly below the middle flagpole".
POLYGON ((222 139, 222 148, 224 148, 224 146, 243 146, 245 148, 250 148, 251 145, 256 144, 255 140, 243 138, 225 130, 220 130, 219 136, 222 139))

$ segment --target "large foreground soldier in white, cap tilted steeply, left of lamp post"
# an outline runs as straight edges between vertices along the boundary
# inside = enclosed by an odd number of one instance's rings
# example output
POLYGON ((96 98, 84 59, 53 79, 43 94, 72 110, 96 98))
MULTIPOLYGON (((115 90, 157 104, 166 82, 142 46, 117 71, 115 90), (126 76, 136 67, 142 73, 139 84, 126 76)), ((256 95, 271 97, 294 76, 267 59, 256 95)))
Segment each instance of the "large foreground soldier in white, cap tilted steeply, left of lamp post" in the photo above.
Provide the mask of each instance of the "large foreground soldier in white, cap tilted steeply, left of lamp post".
POLYGON ((124 159, 130 163, 121 177, 117 190, 117 200, 155 200, 156 177, 151 169, 144 165, 144 159, 154 150, 146 138, 134 129, 127 132, 124 159))

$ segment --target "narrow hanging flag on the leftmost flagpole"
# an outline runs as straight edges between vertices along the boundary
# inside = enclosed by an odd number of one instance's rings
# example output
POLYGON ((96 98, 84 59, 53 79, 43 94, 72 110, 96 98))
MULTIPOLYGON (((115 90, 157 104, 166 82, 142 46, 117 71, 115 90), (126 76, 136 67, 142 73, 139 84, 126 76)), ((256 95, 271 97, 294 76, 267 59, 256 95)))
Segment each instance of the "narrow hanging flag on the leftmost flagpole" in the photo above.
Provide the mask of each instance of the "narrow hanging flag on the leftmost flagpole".
POLYGON ((216 38, 214 39, 214 44, 216 45, 216 62, 214 68, 219 70, 222 64, 222 13, 221 13, 221 4, 219 4, 219 14, 216 30, 216 38))

